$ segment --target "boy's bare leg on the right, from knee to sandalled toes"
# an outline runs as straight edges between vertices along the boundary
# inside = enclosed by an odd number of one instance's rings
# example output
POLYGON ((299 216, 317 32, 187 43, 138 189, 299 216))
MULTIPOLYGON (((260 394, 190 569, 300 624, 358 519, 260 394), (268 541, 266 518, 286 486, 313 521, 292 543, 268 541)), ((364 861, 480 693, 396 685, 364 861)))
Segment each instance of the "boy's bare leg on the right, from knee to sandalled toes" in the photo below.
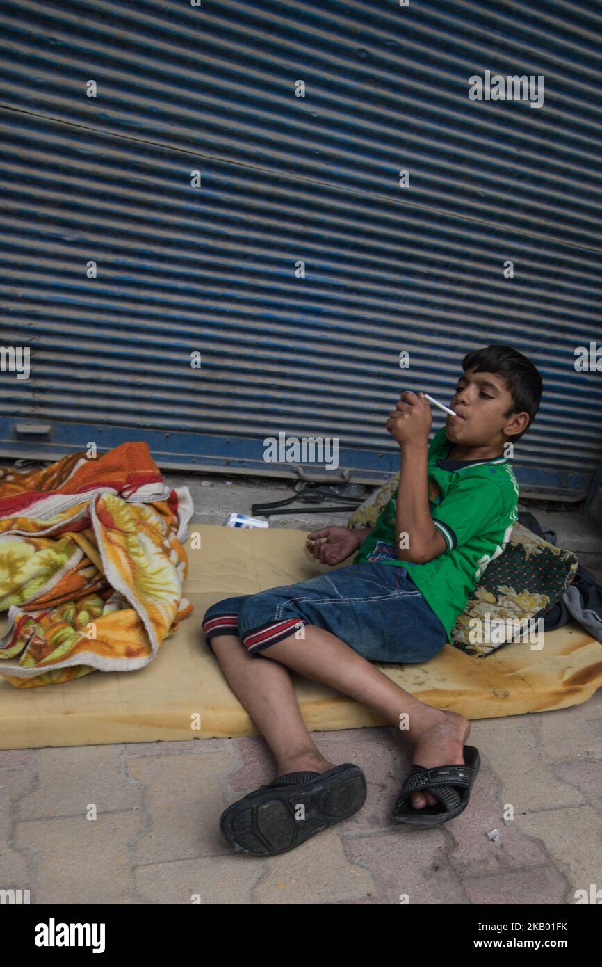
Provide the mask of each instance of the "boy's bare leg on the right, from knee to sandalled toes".
MULTIPOLYGON (((404 734, 412 744, 412 759, 418 765, 426 769, 452 763, 464 765, 463 748, 471 731, 468 718, 420 702, 330 631, 306 625, 304 634, 304 639, 290 634, 262 654, 350 695, 373 708, 391 725, 399 726, 401 715, 408 713, 409 727, 404 734)), ((430 792, 415 792, 411 799, 415 808, 437 802, 430 792)))

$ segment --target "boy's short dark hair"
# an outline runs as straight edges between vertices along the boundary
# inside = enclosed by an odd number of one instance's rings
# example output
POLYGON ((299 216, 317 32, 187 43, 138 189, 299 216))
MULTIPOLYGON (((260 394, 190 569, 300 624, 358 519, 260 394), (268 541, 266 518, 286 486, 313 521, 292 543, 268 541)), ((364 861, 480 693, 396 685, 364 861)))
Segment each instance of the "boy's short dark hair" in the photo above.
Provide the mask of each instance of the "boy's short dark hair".
POLYGON ((502 376, 506 389, 512 396, 512 406, 503 416, 509 417, 512 413, 522 412, 527 412, 530 416, 522 433, 508 437, 512 443, 520 440, 535 419, 541 401, 543 381, 537 367, 512 346, 494 343, 484 349, 473 349, 473 352, 467 353, 462 360, 462 368, 465 372, 467 369, 475 369, 476 372, 495 372, 502 376))

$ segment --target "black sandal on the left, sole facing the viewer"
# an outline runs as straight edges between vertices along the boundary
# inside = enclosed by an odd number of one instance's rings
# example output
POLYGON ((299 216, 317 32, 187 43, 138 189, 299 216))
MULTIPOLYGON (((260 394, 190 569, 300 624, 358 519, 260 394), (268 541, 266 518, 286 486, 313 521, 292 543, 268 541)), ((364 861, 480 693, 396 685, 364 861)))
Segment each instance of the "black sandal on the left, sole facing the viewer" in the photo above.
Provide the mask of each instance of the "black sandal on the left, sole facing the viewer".
POLYGON ((277 856, 352 816, 365 799, 366 778, 352 762, 326 773, 287 773, 224 809, 219 829, 237 852, 277 856))

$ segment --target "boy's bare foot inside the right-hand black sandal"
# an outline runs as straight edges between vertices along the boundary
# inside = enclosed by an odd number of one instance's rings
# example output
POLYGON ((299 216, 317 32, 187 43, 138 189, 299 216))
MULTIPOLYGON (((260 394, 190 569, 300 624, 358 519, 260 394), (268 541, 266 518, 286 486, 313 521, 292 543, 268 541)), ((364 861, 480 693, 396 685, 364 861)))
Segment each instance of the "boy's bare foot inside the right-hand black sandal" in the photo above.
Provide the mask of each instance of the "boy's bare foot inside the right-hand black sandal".
MULTIPOLYGON (((435 766, 464 765, 463 749, 471 732, 468 718, 456 712, 440 712, 432 724, 425 724, 414 735, 412 762, 425 769, 435 766)), ((411 733, 412 737, 412 733, 411 733)), ((413 792, 410 801, 415 809, 435 806, 439 799, 432 792, 413 792)))

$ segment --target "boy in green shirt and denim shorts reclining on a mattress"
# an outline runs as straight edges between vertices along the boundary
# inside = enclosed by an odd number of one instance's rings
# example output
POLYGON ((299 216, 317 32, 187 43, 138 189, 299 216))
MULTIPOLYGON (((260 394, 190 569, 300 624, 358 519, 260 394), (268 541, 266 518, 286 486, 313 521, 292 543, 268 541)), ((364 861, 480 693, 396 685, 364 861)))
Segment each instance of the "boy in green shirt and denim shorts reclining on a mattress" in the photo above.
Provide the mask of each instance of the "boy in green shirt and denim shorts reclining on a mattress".
POLYGON ((457 415, 447 417, 430 447, 432 414, 422 394, 402 393, 390 413, 401 472, 375 526, 326 527, 308 536, 323 564, 356 552, 349 566, 228 598, 205 614, 207 643, 277 766, 269 785, 222 813, 221 833, 235 850, 286 852, 365 800, 361 769, 334 765, 313 744, 289 668, 352 696, 391 725, 407 715, 414 765, 391 817, 401 829, 440 825, 466 808, 479 766, 477 749, 466 745, 468 719, 418 701, 371 663, 437 655, 518 517, 518 484, 502 454, 506 441, 519 440, 532 423, 541 376, 522 353, 500 344, 468 353, 462 368, 450 403, 457 415))

